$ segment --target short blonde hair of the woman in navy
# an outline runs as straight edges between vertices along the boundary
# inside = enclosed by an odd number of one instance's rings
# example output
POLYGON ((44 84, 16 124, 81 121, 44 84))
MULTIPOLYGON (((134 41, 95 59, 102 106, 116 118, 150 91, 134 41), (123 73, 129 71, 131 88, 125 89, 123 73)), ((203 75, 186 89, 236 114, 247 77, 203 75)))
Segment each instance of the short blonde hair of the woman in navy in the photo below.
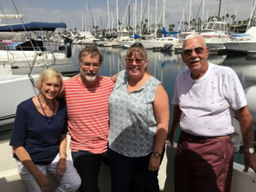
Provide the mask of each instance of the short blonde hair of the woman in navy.
POLYGON ((42 71, 38 80, 36 80, 36 88, 38 89, 39 93, 42 93, 42 82, 44 80, 48 80, 51 78, 56 78, 57 80, 60 80, 61 89, 60 89, 60 93, 57 95, 57 97, 59 97, 64 90, 64 83, 63 83, 61 73, 54 68, 48 68, 48 69, 45 69, 44 71, 42 71))

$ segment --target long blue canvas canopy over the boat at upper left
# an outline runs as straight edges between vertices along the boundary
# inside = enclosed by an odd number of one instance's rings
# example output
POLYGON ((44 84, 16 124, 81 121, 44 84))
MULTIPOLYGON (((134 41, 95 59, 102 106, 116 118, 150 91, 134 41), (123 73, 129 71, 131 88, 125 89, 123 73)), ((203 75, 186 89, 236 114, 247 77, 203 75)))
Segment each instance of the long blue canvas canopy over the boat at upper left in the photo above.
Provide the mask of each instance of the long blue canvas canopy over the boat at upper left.
POLYGON ((65 22, 29 22, 24 24, 0 25, 0 31, 54 31, 56 28, 67 28, 65 22))

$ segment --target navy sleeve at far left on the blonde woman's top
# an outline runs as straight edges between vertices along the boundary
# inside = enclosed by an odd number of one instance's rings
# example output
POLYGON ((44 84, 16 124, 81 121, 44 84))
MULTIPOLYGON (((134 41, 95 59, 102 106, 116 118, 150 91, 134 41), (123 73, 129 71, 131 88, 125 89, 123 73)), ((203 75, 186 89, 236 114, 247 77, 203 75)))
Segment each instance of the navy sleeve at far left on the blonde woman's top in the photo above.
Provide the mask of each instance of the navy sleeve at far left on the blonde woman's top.
POLYGON ((28 112, 20 104, 17 106, 16 118, 10 136, 11 146, 22 146, 25 144, 28 134, 28 112))

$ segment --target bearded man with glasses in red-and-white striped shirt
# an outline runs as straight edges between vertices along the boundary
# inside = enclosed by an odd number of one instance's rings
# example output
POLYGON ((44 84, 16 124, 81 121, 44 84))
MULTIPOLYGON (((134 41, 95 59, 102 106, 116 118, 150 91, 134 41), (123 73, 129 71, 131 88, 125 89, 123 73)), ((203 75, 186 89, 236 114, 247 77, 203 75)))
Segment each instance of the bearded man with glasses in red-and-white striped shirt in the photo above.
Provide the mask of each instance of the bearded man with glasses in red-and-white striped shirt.
POLYGON ((102 62, 97 48, 83 48, 80 74, 65 82, 70 148, 82 182, 80 192, 99 192, 99 168, 106 158, 108 98, 113 82, 99 76, 102 62))

